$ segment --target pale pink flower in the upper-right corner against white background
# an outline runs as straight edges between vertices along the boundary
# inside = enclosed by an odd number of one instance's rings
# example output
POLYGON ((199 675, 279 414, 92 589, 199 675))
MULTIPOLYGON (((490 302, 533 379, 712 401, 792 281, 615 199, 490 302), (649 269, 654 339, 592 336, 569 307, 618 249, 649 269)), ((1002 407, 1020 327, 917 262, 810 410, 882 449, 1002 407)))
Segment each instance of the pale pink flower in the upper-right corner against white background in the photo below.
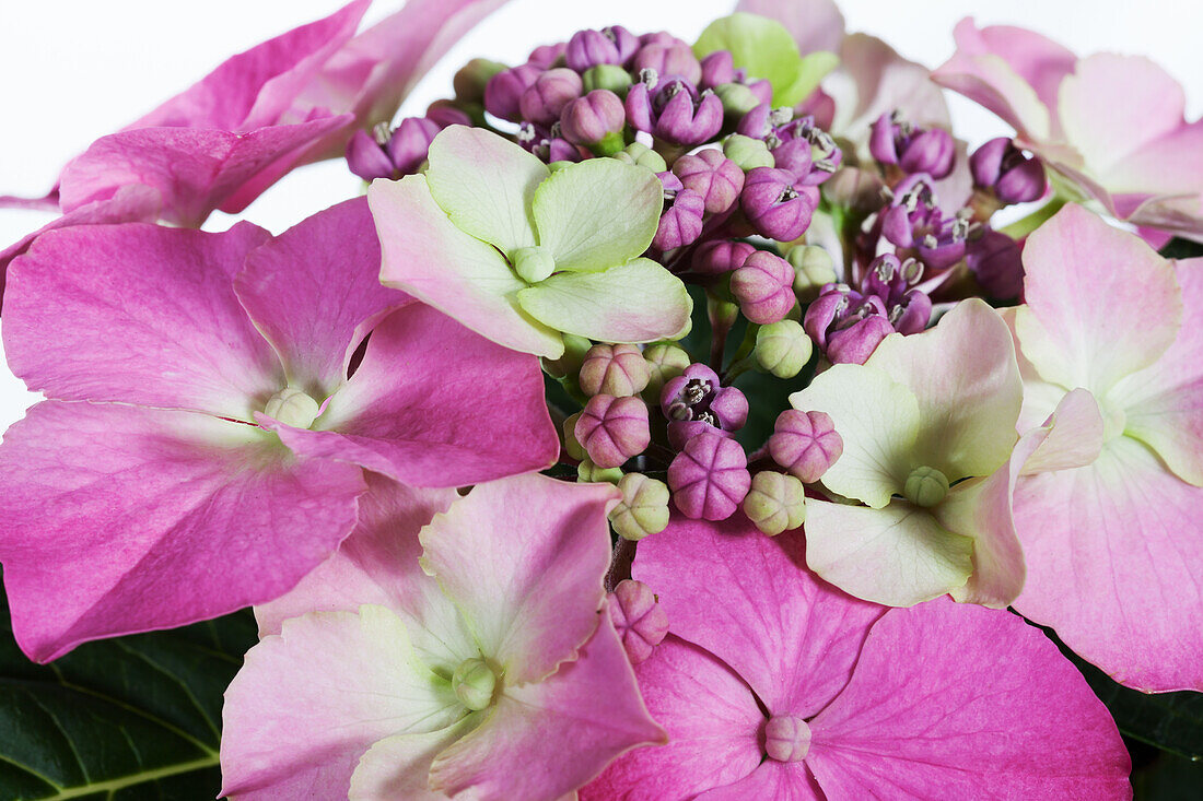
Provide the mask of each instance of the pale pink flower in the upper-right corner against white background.
POLYGON ((1014 126, 1031 149, 1113 216, 1203 238, 1203 120, 1186 123, 1186 96, 1143 57, 1084 59, 1039 34, 972 19, 932 78, 1014 126))

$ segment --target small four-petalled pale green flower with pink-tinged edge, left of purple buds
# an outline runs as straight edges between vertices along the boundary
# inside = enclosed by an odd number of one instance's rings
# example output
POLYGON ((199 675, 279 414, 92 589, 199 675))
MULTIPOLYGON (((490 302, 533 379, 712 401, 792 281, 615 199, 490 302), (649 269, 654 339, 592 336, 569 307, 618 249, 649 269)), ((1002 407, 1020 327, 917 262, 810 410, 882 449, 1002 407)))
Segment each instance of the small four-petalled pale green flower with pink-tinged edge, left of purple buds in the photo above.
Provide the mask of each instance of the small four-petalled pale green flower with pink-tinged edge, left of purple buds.
POLYGON ((645 167, 591 159, 553 173, 500 136, 452 125, 425 176, 377 180, 368 202, 380 277, 493 342, 549 358, 562 333, 608 343, 674 339, 693 304, 642 259, 663 185, 645 167))

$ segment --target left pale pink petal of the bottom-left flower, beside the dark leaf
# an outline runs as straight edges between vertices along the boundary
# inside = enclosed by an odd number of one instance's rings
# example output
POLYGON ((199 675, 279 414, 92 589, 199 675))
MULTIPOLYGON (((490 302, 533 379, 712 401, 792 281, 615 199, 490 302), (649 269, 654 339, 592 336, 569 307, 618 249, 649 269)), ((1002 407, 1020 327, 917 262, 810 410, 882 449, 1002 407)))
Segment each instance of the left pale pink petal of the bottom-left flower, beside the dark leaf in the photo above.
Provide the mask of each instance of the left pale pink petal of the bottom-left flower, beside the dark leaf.
POLYGON ((445 730, 464 712, 451 682, 414 658, 389 610, 285 621, 247 653, 226 690, 221 795, 345 797, 373 743, 445 730))

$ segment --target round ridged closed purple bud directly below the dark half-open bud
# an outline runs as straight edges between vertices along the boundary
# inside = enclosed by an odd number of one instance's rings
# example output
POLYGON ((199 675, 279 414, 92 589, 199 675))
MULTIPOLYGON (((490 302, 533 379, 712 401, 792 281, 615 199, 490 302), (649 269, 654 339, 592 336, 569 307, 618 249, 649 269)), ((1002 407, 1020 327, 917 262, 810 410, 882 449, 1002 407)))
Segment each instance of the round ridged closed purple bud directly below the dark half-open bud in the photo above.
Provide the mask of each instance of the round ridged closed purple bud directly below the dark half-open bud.
POLYGON ((752 486, 747 456, 734 439, 703 432, 669 464, 672 500, 686 517, 727 520, 752 486))

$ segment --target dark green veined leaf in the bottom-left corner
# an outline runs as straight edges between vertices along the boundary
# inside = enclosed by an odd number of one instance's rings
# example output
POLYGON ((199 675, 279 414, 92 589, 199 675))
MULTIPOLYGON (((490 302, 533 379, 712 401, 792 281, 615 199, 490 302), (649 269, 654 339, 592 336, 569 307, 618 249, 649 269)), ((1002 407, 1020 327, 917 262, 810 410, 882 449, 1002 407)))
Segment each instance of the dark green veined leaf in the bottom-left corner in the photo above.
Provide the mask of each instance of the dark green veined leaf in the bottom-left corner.
POLYGON ((214 799, 223 693, 256 641, 249 610, 89 642, 36 665, 0 599, 0 801, 214 799))

